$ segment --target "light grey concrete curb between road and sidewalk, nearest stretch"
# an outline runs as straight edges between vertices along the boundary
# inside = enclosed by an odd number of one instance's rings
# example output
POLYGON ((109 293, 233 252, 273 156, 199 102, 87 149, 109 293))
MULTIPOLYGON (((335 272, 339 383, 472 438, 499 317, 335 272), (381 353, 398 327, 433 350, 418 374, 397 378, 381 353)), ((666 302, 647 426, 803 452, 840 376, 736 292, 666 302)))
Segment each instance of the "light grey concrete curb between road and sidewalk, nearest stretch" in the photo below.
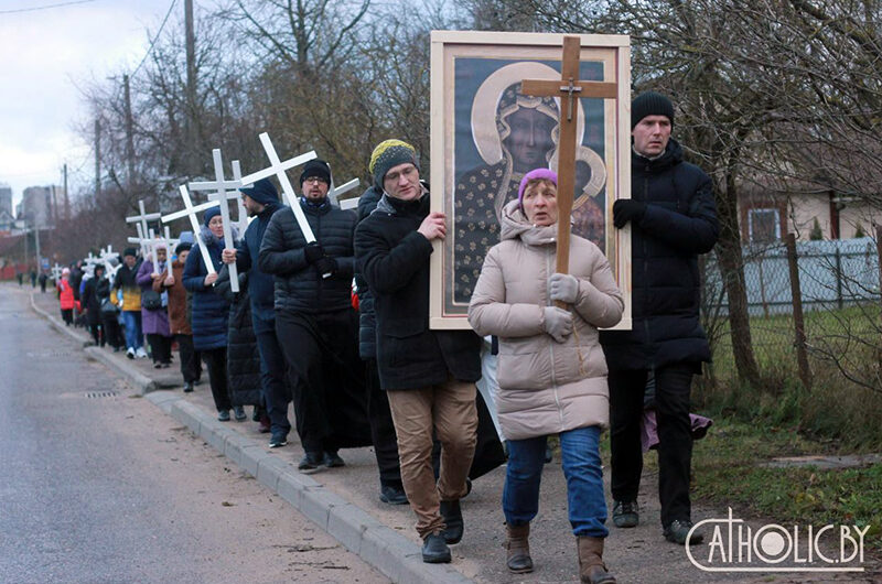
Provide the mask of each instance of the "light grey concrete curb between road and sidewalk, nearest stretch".
POLYGON ((159 390, 149 393, 147 399, 392 582, 473 582, 449 565, 423 563, 417 543, 313 478, 299 473, 293 464, 269 453, 262 443, 239 434, 225 422, 218 422, 182 396, 159 390))

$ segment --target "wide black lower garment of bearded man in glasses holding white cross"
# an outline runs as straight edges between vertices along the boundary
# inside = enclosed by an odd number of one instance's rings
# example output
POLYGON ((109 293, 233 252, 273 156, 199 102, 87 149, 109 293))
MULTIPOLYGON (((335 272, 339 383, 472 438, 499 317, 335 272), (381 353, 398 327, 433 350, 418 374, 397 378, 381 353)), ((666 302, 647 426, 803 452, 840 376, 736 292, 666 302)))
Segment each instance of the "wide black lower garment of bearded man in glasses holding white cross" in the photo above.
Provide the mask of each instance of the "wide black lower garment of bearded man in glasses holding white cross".
POLYGON ((297 432, 309 453, 370 444, 358 321, 352 310, 276 313, 276 334, 291 370, 297 432))

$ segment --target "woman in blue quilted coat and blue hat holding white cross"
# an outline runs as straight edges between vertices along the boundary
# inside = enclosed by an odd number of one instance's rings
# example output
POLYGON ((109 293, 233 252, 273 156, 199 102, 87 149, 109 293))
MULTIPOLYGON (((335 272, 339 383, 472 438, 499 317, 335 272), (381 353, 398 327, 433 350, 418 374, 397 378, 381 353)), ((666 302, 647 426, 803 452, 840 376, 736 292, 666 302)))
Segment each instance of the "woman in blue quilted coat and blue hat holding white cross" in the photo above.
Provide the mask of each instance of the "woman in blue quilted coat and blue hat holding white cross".
MULTIPOLYGON (((205 212, 198 246, 205 246, 214 264, 214 273, 208 273, 202 252, 195 247, 184 264, 184 288, 193 292, 193 348, 202 354, 208 369, 217 419, 229 421, 233 402, 227 381, 227 321, 229 302, 213 291, 220 271, 220 252, 224 249, 224 219, 220 209, 212 207, 205 212)), ((236 408, 236 420, 245 420, 245 409, 236 408)))

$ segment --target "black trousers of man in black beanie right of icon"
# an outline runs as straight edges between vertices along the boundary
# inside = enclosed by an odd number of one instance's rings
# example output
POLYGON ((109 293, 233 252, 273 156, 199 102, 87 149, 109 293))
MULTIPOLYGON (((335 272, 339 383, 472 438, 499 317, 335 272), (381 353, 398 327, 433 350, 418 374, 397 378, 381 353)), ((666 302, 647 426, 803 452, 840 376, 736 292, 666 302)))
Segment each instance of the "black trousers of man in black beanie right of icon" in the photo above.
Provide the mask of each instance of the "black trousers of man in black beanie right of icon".
MULTIPOLYGON (((663 527, 676 519, 691 519, 689 393, 696 371, 697 364, 692 363, 671 364, 655 370, 658 499, 663 527)), ((610 445, 615 500, 636 500, 641 486, 641 420, 648 372, 646 369, 610 370, 610 445)))

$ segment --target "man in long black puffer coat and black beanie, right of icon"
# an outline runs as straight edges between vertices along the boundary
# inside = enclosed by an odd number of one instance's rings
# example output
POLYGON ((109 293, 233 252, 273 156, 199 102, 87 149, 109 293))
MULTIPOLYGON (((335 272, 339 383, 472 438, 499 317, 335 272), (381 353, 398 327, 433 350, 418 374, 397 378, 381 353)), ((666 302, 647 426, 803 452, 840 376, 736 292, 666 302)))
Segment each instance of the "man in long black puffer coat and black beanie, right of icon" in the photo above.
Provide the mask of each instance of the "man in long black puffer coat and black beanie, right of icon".
MULTIPOLYGON (((686 543, 692 527, 689 476, 692 376, 710 360, 699 322, 698 255, 717 242, 720 225, 710 177, 684 162, 670 138, 674 106, 653 91, 631 106, 631 199, 616 201, 613 223, 632 226, 632 329, 600 336, 610 367, 613 523, 638 522, 643 469, 641 419, 647 375, 656 382, 658 495, 665 539, 686 543)), ((699 543, 693 533, 691 543, 699 543)))

